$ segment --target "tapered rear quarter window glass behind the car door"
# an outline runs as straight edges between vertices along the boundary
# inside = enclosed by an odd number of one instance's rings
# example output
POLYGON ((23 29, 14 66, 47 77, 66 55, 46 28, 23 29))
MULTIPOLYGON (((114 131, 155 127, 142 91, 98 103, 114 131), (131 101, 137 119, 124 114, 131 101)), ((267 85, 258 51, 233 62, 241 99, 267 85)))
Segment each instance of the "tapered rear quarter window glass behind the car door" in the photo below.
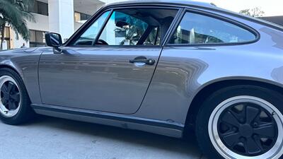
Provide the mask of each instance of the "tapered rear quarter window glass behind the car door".
POLYGON ((255 38, 250 31, 224 20, 197 13, 185 13, 171 37, 170 44, 222 44, 248 42, 255 38))

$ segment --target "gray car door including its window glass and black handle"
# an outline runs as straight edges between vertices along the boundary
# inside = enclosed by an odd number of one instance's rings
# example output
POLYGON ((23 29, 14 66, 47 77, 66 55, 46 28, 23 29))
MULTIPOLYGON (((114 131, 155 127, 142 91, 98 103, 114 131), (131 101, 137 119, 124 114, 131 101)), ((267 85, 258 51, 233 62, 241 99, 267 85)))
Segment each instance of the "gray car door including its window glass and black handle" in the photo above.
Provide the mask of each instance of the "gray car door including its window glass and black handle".
POLYGON ((143 18, 143 8, 105 11, 62 54, 44 52, 39 64, 42 103, 137 112, 161 54, 160 41, 177 13, 170 11, 171 20, 167 16, 163 25, 149 15, 143 18))

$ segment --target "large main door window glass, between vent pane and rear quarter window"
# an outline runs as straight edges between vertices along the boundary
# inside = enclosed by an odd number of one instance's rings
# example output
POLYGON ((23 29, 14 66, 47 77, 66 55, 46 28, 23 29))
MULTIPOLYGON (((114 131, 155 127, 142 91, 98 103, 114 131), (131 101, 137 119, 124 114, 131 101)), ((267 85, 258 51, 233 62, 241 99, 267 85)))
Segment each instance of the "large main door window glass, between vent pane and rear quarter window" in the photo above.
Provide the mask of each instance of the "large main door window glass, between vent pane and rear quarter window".
POLYGON ((176 14, 162 8, 113 11, 96 45, 160 45, 176 14))

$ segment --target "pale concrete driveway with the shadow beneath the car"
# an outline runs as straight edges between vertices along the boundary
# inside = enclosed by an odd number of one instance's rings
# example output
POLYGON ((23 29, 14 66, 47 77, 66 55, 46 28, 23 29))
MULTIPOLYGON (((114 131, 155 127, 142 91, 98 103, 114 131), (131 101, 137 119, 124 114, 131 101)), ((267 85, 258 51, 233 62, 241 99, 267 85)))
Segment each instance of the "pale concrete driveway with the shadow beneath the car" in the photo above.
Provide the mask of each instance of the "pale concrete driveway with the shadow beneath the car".
POLYGON ((0 122, 1 159, 203 158, 190 140, 52 117, 22 126, 0 122))

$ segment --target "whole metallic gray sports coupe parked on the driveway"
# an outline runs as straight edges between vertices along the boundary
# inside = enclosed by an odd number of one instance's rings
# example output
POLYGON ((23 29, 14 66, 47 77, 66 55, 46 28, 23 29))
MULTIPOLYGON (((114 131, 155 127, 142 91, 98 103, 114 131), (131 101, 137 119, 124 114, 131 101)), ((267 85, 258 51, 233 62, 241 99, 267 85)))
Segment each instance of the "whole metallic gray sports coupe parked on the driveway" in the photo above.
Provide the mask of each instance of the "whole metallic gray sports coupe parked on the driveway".
POLYGON ((0 119, 35 113, 181 138, 209 158, 283 154, 283 28, 193 1, 101 8, 67 42, 0 53, 0 119))

